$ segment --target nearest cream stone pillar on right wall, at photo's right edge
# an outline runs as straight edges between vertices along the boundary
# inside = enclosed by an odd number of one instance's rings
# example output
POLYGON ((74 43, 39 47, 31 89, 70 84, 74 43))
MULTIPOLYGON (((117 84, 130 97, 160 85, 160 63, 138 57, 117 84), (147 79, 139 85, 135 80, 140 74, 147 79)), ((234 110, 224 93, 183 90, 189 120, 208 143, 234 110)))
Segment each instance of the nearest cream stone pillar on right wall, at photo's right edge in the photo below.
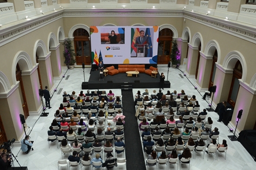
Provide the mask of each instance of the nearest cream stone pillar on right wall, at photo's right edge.
POLYGON ((256 90, 248 86, 244 82, 240 82, 240 87, 238 91, 238 97, 236 98, 235 108, 232 116, 231 122, 229 122, 229 127, 235 129, 236 121, 238 120, 239 110, 243 110, 241 119, 238 123, 238 128, 236 136, 239 132, 244 129, 253 129, 255 123, 255 109, 256 109, 256 90))

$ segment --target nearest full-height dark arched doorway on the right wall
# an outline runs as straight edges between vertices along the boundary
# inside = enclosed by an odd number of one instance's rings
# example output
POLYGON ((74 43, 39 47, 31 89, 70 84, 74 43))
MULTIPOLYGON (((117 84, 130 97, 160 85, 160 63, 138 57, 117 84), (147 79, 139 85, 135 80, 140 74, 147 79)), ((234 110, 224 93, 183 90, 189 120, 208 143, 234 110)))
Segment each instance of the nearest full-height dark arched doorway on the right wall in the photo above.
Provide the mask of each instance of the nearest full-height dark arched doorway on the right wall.
POLYGON ((240 87, 239 79, 242 79, 242 65, 238 60, 235 64, 235 68, 233 70, 233 78, 231 82, 231 87, 229 89, 228 94, 228 103, 235 107, 236 97, 238 96, 238 91, 240 87))

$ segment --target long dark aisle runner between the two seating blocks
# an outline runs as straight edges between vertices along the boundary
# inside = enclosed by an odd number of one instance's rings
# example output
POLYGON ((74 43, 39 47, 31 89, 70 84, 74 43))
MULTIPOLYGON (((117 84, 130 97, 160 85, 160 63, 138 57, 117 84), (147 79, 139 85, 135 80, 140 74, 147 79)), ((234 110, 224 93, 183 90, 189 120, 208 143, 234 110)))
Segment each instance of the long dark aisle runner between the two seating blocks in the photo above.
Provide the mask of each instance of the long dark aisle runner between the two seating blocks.
POLYGON ((138 121, 132 91, 122 91, 123 113, 125 115, 125 156, 127 170, 145 170, 145 161, 140 143, 138 121))

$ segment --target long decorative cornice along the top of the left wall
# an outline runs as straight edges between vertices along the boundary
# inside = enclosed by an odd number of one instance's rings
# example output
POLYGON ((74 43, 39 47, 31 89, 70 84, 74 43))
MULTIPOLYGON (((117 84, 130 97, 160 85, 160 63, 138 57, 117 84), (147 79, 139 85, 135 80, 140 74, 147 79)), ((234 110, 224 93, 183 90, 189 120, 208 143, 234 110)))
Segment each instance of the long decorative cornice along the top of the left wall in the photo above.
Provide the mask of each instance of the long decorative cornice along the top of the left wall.
POLYGON ((17 38, 20 38, 23 35, 28 34, 29 32, 44 27, 45 25, 60 19, 62 15, 62 11, 56 11, 52 14, 44 15, 40 18, 31 19, 6 29, 2 29, 0 33, 0 47, 16 40, 17 38))

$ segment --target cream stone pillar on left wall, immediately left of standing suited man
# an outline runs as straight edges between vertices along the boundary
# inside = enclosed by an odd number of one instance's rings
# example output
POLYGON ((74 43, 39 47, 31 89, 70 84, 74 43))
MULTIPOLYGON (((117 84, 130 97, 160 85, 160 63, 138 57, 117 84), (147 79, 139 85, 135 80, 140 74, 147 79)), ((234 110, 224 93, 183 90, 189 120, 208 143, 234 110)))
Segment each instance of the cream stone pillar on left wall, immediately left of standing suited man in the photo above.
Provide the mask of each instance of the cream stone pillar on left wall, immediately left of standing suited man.
POLYGON ((38 114, 37 111, 40 109, 42 102, 41 97, 39 96, 40 83, 37 73, 37 67, 38 63, 36 66, 34 66, 33 69, 29 71, 22 71, 22 80, 25 87, 24 90, 28 103, 29 113, 38 114))

